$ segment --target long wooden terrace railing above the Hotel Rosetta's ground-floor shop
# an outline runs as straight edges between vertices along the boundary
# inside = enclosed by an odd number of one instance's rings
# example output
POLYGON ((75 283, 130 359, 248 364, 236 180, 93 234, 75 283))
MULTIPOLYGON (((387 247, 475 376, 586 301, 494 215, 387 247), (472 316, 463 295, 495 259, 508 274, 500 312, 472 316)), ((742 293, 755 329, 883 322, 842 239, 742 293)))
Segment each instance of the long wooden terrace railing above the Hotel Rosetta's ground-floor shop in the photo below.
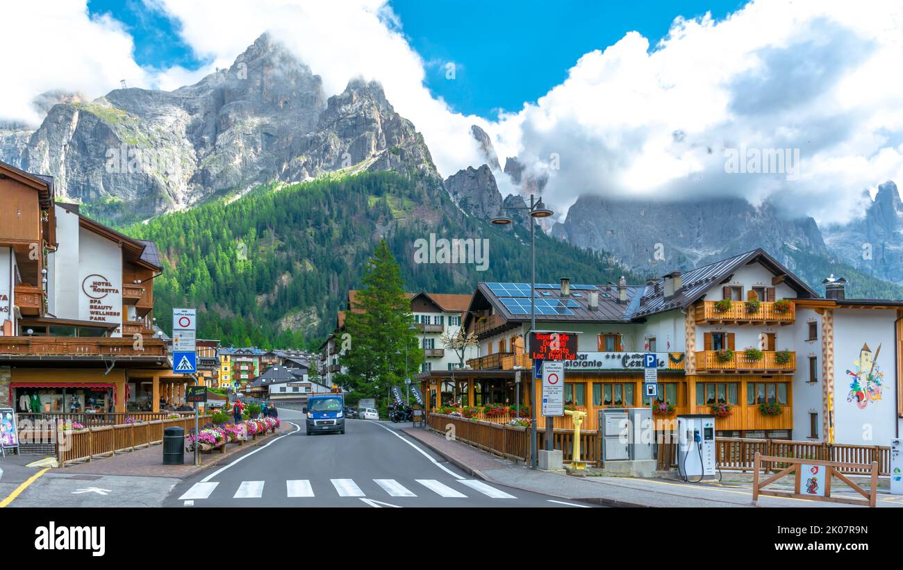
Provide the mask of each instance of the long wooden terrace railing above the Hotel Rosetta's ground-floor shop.
POLYGON ((131 337, 0 336, 0 354, 165 356, 166 345, 157 338, 145 338, 142 345, 136 348, 131 337))

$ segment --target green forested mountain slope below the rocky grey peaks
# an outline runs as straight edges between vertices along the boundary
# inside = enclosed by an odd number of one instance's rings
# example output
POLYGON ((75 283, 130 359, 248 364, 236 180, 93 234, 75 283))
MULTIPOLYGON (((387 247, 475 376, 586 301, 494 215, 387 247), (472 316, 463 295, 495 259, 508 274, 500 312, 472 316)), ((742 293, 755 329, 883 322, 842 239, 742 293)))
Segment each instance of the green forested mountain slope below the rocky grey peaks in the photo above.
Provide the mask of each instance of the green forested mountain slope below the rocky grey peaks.
MULTIPOLYGON (((437 179, 395 172, 270 184, 124 228, 152 239, 165 271, 155 280, 158 325, 172 306, 199 308, 199 336, 228 345, 312 346, 335 326, 349 289, 382 237, 408 290, 470 293, 479 280, 529 280, 528 234, 465 216, 437 179), (441 228, 441 229, 439 229, 441 228), (489 264, 419 264, 414 244, 431 233, 489 239, 489 264)), ((599 253, 536 236, 536 280, 617 280, 599 253)), ((640 282, 627 273, 628 280, 640 282)))

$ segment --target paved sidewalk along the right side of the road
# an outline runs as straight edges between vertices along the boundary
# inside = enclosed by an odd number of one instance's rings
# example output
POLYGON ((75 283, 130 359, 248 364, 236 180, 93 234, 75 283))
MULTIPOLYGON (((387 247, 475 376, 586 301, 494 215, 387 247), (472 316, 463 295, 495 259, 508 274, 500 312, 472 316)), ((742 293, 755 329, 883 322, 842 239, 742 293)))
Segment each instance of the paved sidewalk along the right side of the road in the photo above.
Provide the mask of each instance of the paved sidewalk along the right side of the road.
MULTIPOLYGON (((665 479, 630 477, 573 477, 530 469, 479 451, 459 441, 447 440, 425 428, 402 430, 410 437, 457 465, 466 473, 491 483, 530 492, 541 492, 561 499, 594 502, 611 507, 753 507, 752 491, 743 482, 684 483, 665 479)), ((772 486, 775 490, 786 490, 772 486)), ((861 498, 852 491, 833 492, 833 496, 861 498)), ((759 507, 844 507, 836 502, 806 501, 778 497, 759 497, 759 507)), ((903 507, 903 497, 879 492, 879 507, 903 507)))

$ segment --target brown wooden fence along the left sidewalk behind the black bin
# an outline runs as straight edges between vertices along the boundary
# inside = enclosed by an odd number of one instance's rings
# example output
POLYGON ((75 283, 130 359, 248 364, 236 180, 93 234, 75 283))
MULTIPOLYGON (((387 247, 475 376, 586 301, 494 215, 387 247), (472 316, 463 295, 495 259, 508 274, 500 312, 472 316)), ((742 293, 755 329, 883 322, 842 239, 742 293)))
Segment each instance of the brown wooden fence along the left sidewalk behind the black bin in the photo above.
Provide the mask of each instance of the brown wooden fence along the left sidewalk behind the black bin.
MULTIPOLYGON (((200 426, 209 423, 210 418, 201 416, 200 426)), ((188 435, 194 430, 194 417, 61 430, 58 434, 57 461, 62 467, 158 444, 163 441, 163 429, 166 427, 182 427, 188 435)))

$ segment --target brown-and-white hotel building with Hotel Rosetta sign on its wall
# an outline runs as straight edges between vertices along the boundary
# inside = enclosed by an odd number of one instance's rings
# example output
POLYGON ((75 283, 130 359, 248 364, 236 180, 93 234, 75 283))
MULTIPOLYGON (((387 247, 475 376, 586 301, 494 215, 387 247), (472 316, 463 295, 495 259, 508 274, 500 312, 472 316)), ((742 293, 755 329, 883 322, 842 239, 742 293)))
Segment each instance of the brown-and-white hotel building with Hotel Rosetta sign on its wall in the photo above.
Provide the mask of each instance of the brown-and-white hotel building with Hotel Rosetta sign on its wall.
POLYGON ((0 162, 0 405, 20 412, 125 412, 176 405, 154 336, 153 242, 54 199, 53 179, 0 162))

